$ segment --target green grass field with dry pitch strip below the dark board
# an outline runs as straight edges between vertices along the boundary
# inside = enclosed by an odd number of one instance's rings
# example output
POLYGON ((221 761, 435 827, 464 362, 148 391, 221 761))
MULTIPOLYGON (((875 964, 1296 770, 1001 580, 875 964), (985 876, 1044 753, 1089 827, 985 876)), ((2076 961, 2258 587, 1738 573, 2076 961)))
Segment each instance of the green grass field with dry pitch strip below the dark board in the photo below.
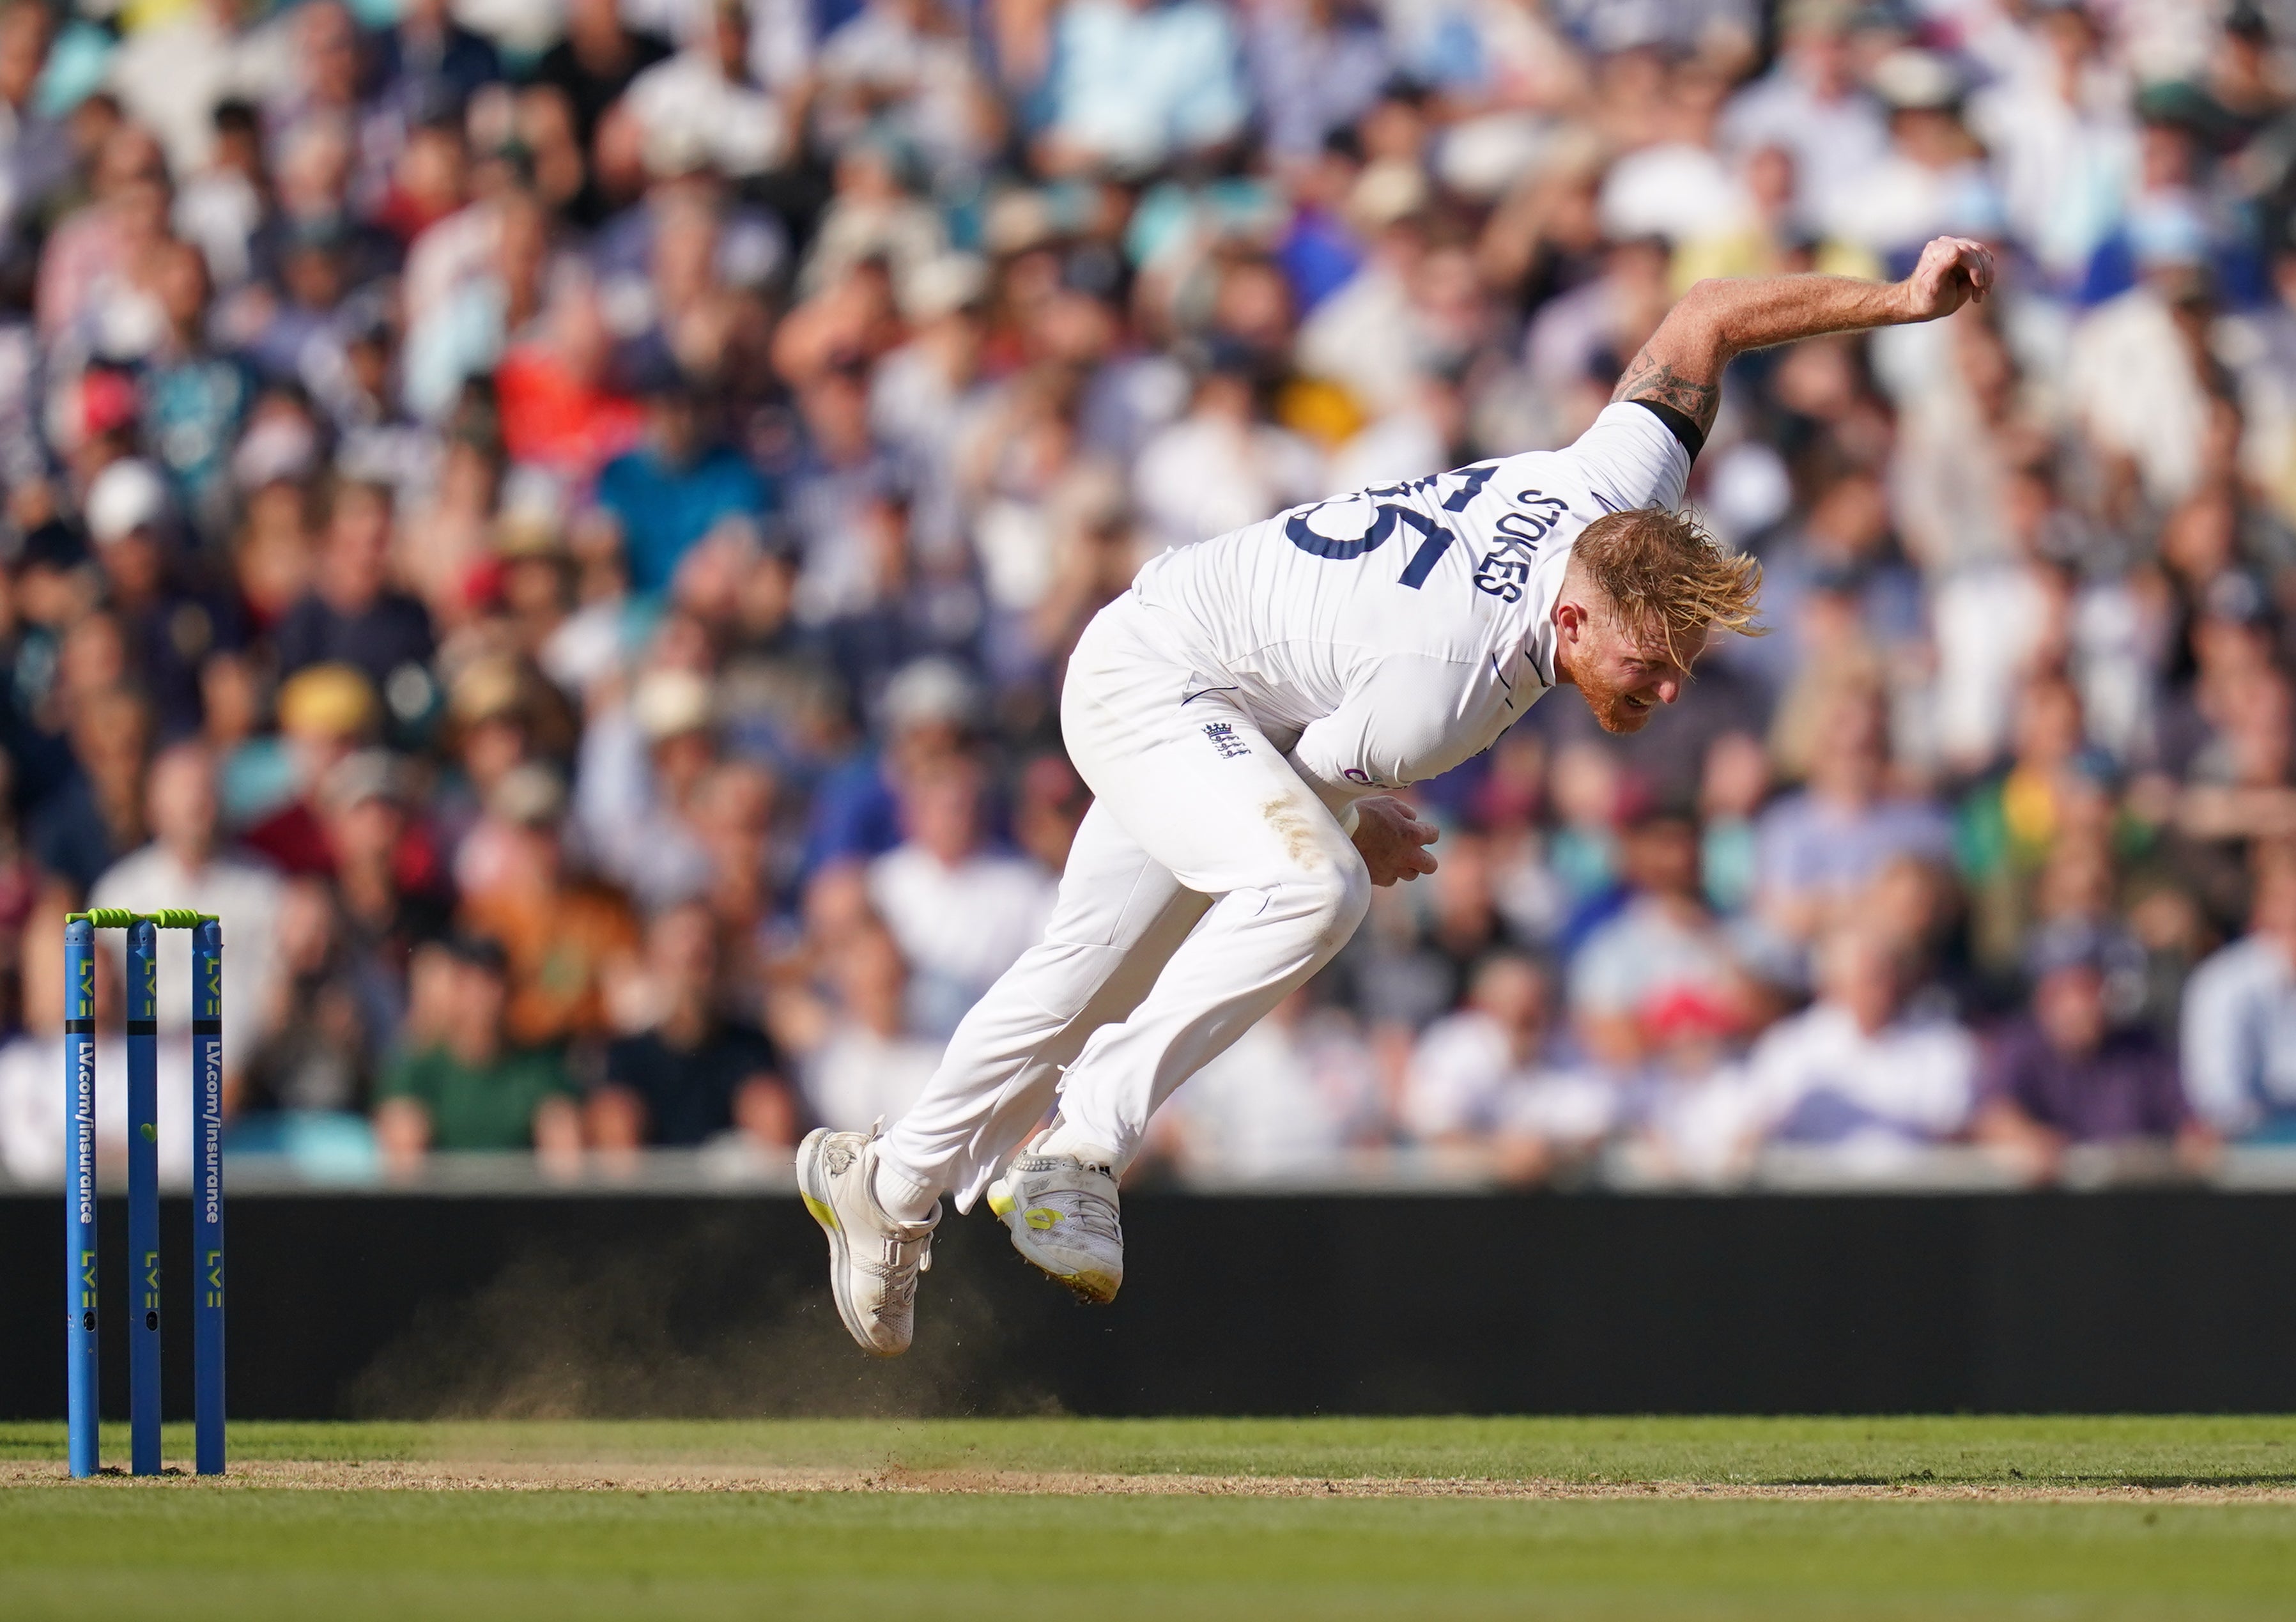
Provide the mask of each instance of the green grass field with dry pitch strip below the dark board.
POLYGON ((239 1424, 232 1445, 223 1486, 73 1484, 60 1424, 0 1424, 0 1615, 2296 1617, 2289 1418, 239 1424), (774 1473, 831 1489, 760 1489, 774 1473), (342 1486, 363 1475, 471 1486, 342 1486), (1435 1486, 1350 1496, 1366 1480, 1435 1486), (1508 1482, 1548 1496, 1474 1486, 1508 1482))

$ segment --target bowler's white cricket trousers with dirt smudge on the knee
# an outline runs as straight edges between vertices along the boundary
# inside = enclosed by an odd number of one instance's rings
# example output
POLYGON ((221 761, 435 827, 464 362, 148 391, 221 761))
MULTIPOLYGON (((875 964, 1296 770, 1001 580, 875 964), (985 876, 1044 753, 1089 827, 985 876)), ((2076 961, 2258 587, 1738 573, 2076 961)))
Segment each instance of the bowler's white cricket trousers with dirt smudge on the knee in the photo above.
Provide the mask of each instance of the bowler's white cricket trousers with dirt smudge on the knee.
POLYGON ((1221 682, 1130 593, 1084 627, 1061 733, 1093 806, 1052 924, 948 1038, 889 1172, 969 1211, 1054 1094, 1130 1165, 1157 1105, 1362 924, 1364 859, 1233 694, 1201 692, 1221 682))

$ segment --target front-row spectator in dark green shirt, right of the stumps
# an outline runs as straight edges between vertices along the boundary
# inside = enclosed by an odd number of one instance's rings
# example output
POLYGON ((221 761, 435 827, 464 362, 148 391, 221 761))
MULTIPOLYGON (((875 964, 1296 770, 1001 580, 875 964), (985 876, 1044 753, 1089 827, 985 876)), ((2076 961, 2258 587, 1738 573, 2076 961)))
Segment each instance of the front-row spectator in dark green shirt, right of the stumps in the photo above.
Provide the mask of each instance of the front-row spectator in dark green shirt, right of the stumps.
POLYGON ((512 1045, 503 1027, 510 979, 503 949, 459 937, 445 953, 441 1029, 402 1052, 377 1087, 374 1137, 393 1169, 429 1151, 535 1149, 581 1153, 581 1110, 556 1055, 512 1045))

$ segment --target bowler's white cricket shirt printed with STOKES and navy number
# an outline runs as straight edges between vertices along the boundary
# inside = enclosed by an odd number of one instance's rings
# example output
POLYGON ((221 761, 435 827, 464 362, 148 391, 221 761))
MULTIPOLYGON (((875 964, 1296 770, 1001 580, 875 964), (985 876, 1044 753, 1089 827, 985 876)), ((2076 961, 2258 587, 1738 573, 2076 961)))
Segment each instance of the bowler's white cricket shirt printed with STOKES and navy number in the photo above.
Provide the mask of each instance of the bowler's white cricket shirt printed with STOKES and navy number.
POLYGON ((1449 772, 1554 687, 1554 597, 1605 512, 1681 505, 1690 453, 1614 404, 1566 450, 1476 462, 1166 551, 1150 634, 1334 809, 1449 772))

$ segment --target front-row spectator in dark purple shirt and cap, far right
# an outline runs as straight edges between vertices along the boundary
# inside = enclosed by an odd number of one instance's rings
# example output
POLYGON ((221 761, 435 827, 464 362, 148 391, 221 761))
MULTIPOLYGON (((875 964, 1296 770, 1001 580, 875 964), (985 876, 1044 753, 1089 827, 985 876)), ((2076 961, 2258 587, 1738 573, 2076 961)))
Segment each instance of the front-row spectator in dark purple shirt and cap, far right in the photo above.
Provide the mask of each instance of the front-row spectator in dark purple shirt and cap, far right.
POLYGON ((1986 1048, 1975 1137, 2034 1181, 2057 1176, 2069 1144, 2177 1144, 2197 1160, 2206 1133, 2177 1087, 2177 1059, 2108 999, 2117 942, 2080 921, 2032 944, 2032 1009, 1986 1048))

